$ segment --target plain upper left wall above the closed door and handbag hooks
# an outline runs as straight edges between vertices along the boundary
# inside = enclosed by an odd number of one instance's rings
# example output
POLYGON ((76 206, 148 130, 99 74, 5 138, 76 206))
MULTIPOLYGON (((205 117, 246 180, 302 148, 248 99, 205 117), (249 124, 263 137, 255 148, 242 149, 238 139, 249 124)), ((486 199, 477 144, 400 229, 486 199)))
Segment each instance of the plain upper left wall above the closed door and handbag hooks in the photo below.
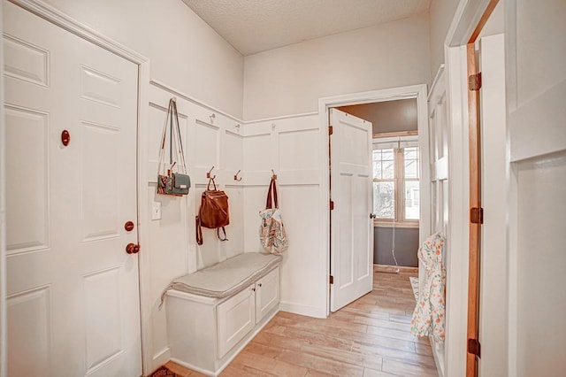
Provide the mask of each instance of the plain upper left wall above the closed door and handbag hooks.
POLYGON ((149 58, 151 79, 241 118, 241 54, 181 0, 45 1, 149 58))

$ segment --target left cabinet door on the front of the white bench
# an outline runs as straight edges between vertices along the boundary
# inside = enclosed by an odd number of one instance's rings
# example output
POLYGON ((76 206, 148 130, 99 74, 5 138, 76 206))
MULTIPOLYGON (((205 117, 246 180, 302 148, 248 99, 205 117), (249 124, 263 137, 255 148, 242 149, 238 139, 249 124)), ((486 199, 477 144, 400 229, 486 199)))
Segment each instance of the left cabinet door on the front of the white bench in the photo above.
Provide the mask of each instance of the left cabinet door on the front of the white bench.
POLYGON ((218 358, 256 326, 256 292, 250 286, 218 305, 218 358))

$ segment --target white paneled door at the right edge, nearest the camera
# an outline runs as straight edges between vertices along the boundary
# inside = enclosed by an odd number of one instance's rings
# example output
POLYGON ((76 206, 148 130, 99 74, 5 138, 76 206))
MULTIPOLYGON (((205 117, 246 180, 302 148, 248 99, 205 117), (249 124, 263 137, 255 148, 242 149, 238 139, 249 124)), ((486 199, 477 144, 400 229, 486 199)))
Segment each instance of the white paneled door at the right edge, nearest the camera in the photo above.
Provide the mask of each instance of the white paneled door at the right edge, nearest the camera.
POLYGON ((509 375, 563 375, 566 2, 505 2, 509 375))

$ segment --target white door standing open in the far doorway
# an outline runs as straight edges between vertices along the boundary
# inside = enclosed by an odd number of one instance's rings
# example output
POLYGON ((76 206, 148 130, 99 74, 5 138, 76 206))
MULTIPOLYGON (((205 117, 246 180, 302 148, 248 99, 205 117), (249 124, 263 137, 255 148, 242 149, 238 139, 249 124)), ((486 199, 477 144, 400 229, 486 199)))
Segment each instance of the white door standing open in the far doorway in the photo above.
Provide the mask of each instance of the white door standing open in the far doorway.
POLYGON ((373 287, 373 180, 371 122, 330 109, 331 275, 330 310, 373 287))

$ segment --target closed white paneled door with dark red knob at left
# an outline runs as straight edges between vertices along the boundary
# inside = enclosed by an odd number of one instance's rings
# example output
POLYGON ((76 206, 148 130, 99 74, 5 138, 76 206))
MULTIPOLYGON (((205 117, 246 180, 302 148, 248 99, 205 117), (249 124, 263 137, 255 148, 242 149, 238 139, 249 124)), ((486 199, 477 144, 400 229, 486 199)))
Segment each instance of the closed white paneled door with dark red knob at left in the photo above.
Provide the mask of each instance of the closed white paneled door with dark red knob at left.
POLYGON ((6 1, 4 54, 8 375, 139 376, 137 65, 6 1))

